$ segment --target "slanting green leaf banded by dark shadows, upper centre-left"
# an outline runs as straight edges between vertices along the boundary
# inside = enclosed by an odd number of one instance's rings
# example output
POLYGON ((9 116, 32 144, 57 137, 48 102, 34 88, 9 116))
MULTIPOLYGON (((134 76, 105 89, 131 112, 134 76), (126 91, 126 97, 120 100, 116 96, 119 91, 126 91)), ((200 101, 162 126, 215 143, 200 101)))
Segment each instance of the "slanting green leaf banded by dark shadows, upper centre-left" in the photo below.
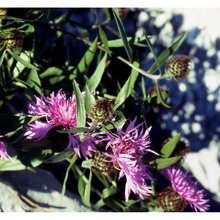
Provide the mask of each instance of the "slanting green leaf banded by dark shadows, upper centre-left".
POLYGON ((70 75, 70 80, 74 79, 78 73, 83 73, 91 64, 94 59, 95 52, 97 49, 97 42, 98 38, 96 38, 89 49, 86 51, 76 68, 74 69, 73 73, 70 75))

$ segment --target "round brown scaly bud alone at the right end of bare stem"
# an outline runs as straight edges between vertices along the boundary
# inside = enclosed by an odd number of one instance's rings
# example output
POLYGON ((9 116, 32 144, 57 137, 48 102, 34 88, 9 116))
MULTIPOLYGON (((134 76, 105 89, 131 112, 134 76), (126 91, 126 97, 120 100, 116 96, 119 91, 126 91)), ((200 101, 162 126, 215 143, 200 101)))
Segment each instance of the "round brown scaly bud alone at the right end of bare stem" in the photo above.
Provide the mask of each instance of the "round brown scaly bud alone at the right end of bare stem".
POLYGON ((167 62, 167 70, 176 80, 187 77, 191 69, 192 60, 185 55, 173 56, 167 62))

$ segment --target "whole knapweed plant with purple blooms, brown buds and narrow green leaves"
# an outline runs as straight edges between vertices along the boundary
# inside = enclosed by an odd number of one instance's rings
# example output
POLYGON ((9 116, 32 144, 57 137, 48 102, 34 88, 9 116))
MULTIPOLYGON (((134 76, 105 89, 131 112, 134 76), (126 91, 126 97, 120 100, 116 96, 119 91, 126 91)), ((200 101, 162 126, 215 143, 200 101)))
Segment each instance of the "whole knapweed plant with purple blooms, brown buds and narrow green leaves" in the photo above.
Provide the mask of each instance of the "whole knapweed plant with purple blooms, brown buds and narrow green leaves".
POLYGON ((0 171, 62 169, 61 196, 91 210, 207 211, 181 131, 157 146, 147 114, 172 110, 163 82, 190 73, 186 33, 158 54, 147 31, 127 36, 128 11, 0 10, 0 171))

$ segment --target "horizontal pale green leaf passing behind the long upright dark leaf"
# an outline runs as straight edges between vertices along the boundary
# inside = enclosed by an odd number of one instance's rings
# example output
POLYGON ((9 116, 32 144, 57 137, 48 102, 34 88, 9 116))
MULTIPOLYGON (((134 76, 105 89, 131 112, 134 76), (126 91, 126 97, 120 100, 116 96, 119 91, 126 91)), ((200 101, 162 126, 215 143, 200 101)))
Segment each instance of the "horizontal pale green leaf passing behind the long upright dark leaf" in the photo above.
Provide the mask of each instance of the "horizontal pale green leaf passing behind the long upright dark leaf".
MULTIPOLYGON (((150 36, 148 36, 150 37, 150 36)), ((147 47, 145 44, 141 44, 142 41, 146 40, 145 36, 142 37, 127 37, 127 41, 130 45, 147 47)), ((109 40, 108 46, 112 48, 123 47, 124 43, 122 39, 109 40)))

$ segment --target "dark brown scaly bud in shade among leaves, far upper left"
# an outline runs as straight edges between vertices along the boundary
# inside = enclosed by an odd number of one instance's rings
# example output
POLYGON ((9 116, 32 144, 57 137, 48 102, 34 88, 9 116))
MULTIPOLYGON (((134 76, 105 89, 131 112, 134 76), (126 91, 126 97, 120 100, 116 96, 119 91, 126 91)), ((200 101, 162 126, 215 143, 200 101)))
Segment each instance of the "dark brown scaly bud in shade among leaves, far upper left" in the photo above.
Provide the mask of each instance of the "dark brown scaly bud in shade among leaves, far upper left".
POLYGON ((21 49, 23 46, 24 35, 19 31, 7 36, 7 48, 11 50, 21 49))

